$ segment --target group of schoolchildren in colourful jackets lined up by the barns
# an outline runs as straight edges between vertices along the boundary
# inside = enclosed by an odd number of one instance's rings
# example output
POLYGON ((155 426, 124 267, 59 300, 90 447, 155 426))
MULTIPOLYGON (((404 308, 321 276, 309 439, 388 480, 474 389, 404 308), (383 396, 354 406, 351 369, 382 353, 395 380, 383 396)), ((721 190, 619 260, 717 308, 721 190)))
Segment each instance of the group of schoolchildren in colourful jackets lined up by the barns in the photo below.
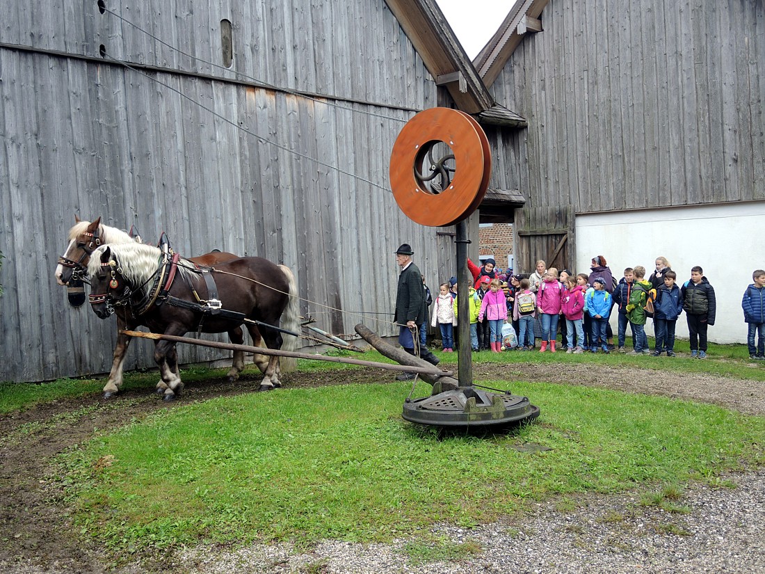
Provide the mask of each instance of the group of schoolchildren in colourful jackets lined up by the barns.
MULTIPOLYGON (((573 276, 564 270, 558 276, 555 268, 542 269, 538 270, 542 280, 535 285, 536 293, 530 280, 523 276, 510 276, 509 284, 497 278, 480 276, 467 294, 470 346, 474 351, 480 349, 479 328, 486 320, 490 331, 487 347, 493 352, 500 352, 503 348, 503 325, 512 322, 518 334, 517 348, 530 351, 535 348, 534 324, 539 319, 542 333, 539 351, 555 353, 558 321, 562 318, 562 344, 567 347, 567 353, 596 353, 601 348, 607 354, 613 348, 607 342, 608 319, 616 306, 619 315, 618 351, 626 352, 624 341, 629 327, 634 347, 630 354, 659 357, 666 353, 668 357, 675 357, 675 326, 682 311, 685 311, 691 355, 703 359, 708 350, 708 327, 715 325, 715 289, 699 266, 691 269, 691 279, 682 286, 677 283, 677 275, 669 267, 662 271, 658 279, 654 279, 654 274, 652 281, 649 281, 643 266, 628 267, 624 269, 620 282, 611 280, 616 285, 608 285, 610 281, 603 277, 594 278, 590 285, 590 276, 585 273, 573 276), (609 286, 612 289, 607 289, 609 286), (645 331, 647 318, 650 317, 653 317, 656 338, 653 352, 649 350, 645 331)), ((749 325, 747 343, 750 358, 765 360, 765 270, 757 269, 753 273, 753 281, 744 292, 741 305, 749 325), (755 345, 757 336, 759 340, 755 345)), ((440 328, 444 351, 454 351, 456 278, 452 277, 450 282, 440 285, 431 325, 440 328)))

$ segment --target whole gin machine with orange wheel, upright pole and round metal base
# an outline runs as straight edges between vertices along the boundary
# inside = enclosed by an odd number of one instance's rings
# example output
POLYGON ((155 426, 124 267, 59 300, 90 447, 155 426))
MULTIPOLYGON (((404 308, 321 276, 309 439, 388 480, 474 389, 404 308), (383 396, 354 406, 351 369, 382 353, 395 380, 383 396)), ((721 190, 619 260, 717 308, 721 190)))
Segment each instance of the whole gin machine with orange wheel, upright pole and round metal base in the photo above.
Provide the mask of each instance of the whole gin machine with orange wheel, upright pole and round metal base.
MULTIPOLYGON (((441 377, 432 381, 431 396, 407 398, 403 417, 410 422, 448 429, 488 430, 539 416, 539 408, 525 396, 509 391, 492 393, 473 384, 470 325, 464 319, 470 316, 466 296, 470 242, 465 220, 486 194, 490 174, 486 134, 475 119, 455 109, 431 108, 418 113, 407 122, 393 146, 390 183, 404 214, 421 225, 457 226, 459 378, 455 385, 451 377, 441 377)), ((361 331, 360 334, 364 336, 361 331)), ((422 366, 425 365, 423 361, 422 366)))

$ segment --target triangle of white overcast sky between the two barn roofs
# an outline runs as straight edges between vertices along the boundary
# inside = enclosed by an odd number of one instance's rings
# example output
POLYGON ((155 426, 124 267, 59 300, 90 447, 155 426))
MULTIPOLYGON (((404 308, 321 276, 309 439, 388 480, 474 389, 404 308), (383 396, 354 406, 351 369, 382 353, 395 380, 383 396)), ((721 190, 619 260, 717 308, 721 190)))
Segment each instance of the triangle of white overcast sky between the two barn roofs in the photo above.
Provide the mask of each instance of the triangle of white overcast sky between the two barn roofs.
POLYGON ((516 0, 436 0, 470 60, 500 28, 516 0))

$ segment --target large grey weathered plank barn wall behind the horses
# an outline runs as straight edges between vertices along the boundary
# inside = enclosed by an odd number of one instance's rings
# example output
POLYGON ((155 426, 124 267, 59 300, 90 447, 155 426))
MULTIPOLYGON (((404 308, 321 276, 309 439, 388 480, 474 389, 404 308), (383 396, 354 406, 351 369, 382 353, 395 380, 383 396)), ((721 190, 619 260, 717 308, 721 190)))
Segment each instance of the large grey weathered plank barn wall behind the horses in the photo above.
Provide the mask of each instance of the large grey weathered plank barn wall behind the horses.
MULTIPOLYGON (((451 238, 406 218, 389 190, 396 135, 438 94, 382 0, 106 7, 125 20, 95 0, 0 5, 0 380, 109 370, 114 322, 70 308, 53 276, 74 214, 135 223, 148 242, 164 230, 184 254, 283 262, 303 313, 335 333, 366 321, 392 334, 375 321, 392 316, 354 313, 392 311, 399 243, 431 285, 452 274, 451 238), (194 59, 223 60, 223 19, 239 75, 194 59)), ((151 345, 133 345, 126 367, 151 366, 151 345)))

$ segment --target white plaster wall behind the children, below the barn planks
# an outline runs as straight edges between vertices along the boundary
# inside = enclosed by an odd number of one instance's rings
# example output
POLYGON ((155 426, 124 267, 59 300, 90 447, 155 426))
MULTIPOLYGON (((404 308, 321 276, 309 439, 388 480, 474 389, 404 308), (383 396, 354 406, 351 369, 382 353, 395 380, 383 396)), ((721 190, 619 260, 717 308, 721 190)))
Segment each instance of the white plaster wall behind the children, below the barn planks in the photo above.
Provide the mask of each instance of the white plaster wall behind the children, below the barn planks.
MULTIPOLYGON (((682 285, 690 279, 691 268, 701 266, 717 297, 709 340, 746 343, 741 298, 754 269, 765 269, 763 230, 763 201, 578 215, 576 272, 589 272, 591 259, 602 255, 617 281, 625 267, 636 265, 646 268, 647 279, 656 257, 665 256, 682 285)), ((615 312, 610 322, 616 334, 615 312)), ((653 335, 653 321, 646 331, 653 335)), ((685 313, 677 323, 677 336, 688 338, 685 313)))

